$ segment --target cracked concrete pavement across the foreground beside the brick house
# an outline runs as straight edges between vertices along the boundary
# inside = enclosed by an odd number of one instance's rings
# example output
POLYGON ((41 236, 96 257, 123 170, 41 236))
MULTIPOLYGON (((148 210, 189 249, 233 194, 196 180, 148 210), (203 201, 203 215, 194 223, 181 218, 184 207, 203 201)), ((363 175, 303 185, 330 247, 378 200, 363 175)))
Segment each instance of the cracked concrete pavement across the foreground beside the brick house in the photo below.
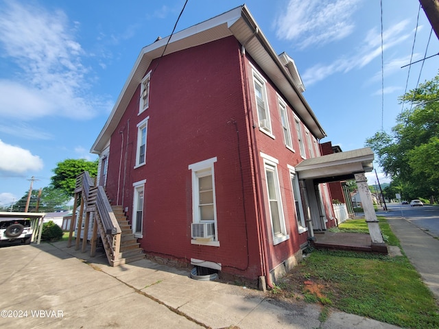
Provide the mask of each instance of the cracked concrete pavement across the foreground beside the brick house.
POLYGON ((66 244, 0 248, 0 328, 397 328, 335 310, 321 323, 316 304, 146 259, 110 267, 66 244))

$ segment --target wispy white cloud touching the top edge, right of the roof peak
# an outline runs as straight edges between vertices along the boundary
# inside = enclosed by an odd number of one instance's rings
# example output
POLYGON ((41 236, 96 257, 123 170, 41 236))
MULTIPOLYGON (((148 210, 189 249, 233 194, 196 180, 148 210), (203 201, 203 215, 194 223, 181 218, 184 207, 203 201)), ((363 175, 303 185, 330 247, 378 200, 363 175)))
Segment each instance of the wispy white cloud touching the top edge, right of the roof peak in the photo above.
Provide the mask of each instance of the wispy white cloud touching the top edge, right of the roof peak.
POLYGON ((287 10, 275 22, 276 35, 296 41, 300 49, 341 40, 354 29, 351 18, 359 0, 289 0, 287 10))

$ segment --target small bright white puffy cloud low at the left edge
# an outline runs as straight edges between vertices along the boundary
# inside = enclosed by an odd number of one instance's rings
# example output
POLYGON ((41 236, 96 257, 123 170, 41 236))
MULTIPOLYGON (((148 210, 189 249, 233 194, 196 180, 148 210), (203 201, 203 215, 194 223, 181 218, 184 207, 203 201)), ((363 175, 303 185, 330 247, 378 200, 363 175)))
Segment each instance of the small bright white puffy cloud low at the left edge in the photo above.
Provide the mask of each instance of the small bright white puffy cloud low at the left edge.
POLYGON ((43 169, 43 160, 29 150, 3 143, 0 140, 0 171, 24 173, 43 169))

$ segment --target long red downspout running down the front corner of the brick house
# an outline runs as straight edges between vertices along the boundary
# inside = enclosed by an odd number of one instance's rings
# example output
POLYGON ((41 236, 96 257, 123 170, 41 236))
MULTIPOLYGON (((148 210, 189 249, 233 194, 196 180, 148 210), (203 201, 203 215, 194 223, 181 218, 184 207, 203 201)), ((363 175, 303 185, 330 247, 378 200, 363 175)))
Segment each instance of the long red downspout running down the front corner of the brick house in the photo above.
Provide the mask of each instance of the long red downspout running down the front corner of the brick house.
MULTIPOLYGON (((246 70, 246 62, 245 62, 245 54, 246 54, 246 45, 247 43, 254 38, 254 36, 256 36, 259 33, 259 29, 256 27, 254 29, 254 33, 252 34, 252 36, 250 36, 248 38, 248 40, 246 40, 246 42, 244 42, 244 45, 241 46, 241 62, 242 62, 242 67, 243 67, 243 72, 244 72, 244 84, 245 84, 245 91, 246 91, 246 102, 247 102, 247 114, 248 114, 248 127, 249 127, 249 131, 250 131, 250 146, 251 146, 251 151, 252 151, 252 162, 253 162, 253 177, 255 178, 255 190, 256 190, 256 195, 257 195, 257 223, 259 226, 259 240, 261 241, 261 249, 262 249, 262 254, 261 254, 261 263, 262 263, 262 270, 263 270, 263 276, 265 276, 265 280, 266 280, 266 284, 268 285, 268 287, 273 288, 274 284, 272 282, 272 278, 270 276, 270 267, 268 265, 268 251, 267 251, 267 247, 265 246, 265 241, 266 241, 266 236, 265 236, 265 225, 264 225, 264 221, 263 221, 263 215, 262 215, 262 200, 261 200, 261 193, 259 191, 261 191, 261 186, 260 186, 260 181, 259 181, 259 173, 260 171, 260 167, 259 167, 259 161, 257 159, 257 147, 256 147, 256 138, 254 136, 255 132, 254 132, 254 126, 253 126, 253 122, 254 122, 254 117, 253 117, 253 111, 252 106, 250 104, 250 99, 248 97, 249 93, 248 93, 248 75, 247 75, 247 70, 246 70)), ((265 289, 265 287, 263 287, 263 289, 265 289)))

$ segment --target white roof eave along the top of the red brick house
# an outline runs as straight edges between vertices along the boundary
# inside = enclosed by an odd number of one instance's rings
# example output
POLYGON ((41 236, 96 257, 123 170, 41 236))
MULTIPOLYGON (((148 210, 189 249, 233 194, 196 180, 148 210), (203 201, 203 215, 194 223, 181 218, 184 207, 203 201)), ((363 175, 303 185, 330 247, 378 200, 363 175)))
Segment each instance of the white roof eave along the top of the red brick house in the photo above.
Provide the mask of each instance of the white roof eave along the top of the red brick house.
MULTIPOLYGON (((108 144, 112 133, 115 131, 123 116, 123 112, 141 83, 145 71, 148 66, 150 66, 152 60, 162 55, 166 45, 165 55, 231 35, 234 35, 235 38, 243 44, 248 40, 248 36, 254 33, 255 27, 259 29, 247 6, 242 5, 224 14, 215 16, 208 21, 177 32, 172 36, 168 45, 169 36, 143 47, 130 71, 130 75, 128 75, 126 83, 123 85, 115 106, 110 112, 110 116, 91 147, 91 153, 100 154, 108 144), (244 25, 242 23, 247 25, 246 29, 237 28, 243 27, 244 25)), ((259 29, 259 31, 261 30, 259 29)), ((270 42, 265 38, 265 35, 259 32, 255 39, 257 39, 257 42, 252 40, 246 48, 250 56, 257 61, 257 64, 259 64, 264 71, 266 70, 265 73, 268 74, 274 84, 281 90, 283 95, 287 98, 287 101, 292 104, 294 110, 298 112, 314 136, 319 139, 327 136, 313 110, 311 110, 305 97, 300 93, 300 90, 298 90, 296 83, 291 75, 289 75, 287 68, 283 66, 281 60, 270 45, 270 42)))

